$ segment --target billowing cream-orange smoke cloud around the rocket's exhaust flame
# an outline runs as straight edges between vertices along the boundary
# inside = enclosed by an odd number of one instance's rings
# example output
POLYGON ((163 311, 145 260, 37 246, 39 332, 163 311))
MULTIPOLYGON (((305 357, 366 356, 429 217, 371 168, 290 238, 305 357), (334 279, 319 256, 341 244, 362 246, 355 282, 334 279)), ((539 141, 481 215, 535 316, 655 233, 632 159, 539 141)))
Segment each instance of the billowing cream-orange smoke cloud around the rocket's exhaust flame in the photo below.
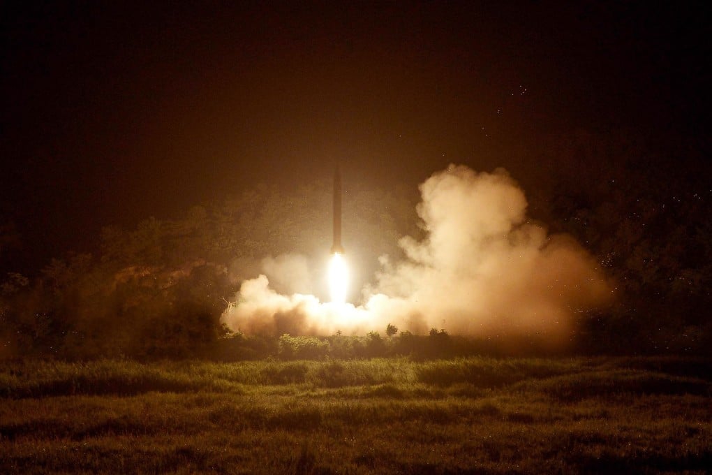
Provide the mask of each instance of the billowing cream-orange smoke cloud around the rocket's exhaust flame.
POLYGON ((244 281, 223 320, 245 333, 363 334, 388 323, 426 333, 540 335, 563 340, 575 313, 608 300, 610 289, 585 249, 565 234, 548 235, 526 219, 523 191, 506 170, 451 165, 420 185, 417 212, 426 237, 399 245, 406 259, 381 258, 365 303, 321 303, 290 293, 308 282, 306 261, 263 261, 267 276, 244 281), (284 291, 284 290, 283 290, 284 291))

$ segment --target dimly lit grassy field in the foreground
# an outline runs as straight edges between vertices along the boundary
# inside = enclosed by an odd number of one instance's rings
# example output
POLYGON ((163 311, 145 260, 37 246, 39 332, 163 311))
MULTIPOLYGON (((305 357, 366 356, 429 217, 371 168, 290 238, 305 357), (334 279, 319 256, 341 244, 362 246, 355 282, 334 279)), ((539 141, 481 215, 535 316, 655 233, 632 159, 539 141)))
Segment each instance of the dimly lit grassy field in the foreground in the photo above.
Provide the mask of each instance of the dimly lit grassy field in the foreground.
POLYGON ((706 473, 712 363, 0 363, 0 473, 706 473))

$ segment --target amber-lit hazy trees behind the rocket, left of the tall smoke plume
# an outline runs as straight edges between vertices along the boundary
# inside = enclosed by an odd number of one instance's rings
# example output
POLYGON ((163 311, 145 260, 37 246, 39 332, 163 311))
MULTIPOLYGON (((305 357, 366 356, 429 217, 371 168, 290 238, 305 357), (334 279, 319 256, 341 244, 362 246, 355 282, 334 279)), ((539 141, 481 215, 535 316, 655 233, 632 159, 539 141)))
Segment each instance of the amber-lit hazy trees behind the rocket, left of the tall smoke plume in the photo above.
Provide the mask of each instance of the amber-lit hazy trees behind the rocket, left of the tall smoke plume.
MULTIPOLYGON (((397 254, 414 203, 397 191, 354 184, 344 212, 352 243, 373 273, 397 254)), ((38 276, 0 280, 0 357, 210 357, 229 330, 221 313, 266 256, 318 256, 331 239, 330 183, 295 190, 258 186, 178 219, 105 227, 96 255, 69 252, 38 276)), ((276 335, 279 336, 279 335, 276 335)))

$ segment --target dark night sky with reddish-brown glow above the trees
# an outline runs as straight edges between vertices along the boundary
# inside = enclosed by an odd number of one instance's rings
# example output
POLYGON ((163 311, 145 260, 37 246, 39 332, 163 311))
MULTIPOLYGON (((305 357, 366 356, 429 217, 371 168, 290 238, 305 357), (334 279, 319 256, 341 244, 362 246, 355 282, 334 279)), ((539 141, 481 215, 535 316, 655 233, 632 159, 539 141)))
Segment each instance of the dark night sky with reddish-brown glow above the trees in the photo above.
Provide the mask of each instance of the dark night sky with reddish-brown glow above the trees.
POLYGON ((36 263, 335 160, 525 181, 577 128, 706 132, 693 2, 157 3, 1 7, 0 217, 36 263))

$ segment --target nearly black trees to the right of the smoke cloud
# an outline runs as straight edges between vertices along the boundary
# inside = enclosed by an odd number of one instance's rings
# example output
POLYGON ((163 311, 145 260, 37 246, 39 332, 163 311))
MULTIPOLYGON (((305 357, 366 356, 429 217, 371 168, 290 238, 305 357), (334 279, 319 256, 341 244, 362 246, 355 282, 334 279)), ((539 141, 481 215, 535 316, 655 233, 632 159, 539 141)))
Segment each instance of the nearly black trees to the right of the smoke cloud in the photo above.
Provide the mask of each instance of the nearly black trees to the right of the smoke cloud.
POLYGON ((712 330, 708 162, 683 141, 586 132, 557 154, 550 189, 533 207, 592 251, 614 281, 616 305, 582 322, 600 349, 659 352, 681 339, 702 348, 698 335, 712 330))

